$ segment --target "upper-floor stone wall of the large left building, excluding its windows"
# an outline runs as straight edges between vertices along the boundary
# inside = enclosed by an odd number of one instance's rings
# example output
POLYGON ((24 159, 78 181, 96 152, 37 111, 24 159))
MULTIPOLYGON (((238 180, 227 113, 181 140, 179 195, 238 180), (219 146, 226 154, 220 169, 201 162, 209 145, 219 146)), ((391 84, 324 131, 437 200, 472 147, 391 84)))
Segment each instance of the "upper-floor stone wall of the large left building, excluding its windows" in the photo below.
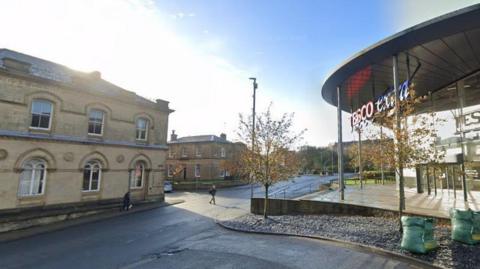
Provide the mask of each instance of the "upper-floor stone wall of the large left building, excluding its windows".
POLYGON ((150 131, 145 143, 166 145, 168 112, 157 110, 154 104, 136 103, 134 94, 122 100, 94 94, 89 90, 0 74, 0 102, 0 118, 4 119, 0 121, 2 130, 88 137, 88 112, 90 109, 99 109, 106 113, 101 139, 137 142, 135 120, 144 117, 149 120, 150 131), (33 99, 46 99, 53 103, 53 121, 48 132, 29 128, 33 99))

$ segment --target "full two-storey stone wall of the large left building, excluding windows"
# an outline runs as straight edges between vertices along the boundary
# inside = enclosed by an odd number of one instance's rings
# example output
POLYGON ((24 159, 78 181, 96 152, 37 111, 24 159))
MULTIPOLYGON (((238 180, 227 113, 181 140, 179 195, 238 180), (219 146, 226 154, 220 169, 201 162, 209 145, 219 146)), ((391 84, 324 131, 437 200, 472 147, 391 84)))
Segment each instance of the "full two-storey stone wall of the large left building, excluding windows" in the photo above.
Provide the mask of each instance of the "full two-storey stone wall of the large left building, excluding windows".
POLYGON ((99 77, 60 83, 0 69, 0 210, 122 198, 137 161, 145 163, 143 186, 133 200, 163 200, 168 102, 151 102, 99 77), (110 85, 99 88, 98 85, 110 85), (53 104, 49 130, 30 127, 34 99, 53 104), (105 113, 103 134, 88 134, 90 109, 105 113), (136 120, 149 122, 146 141, 136 139, 136 120), (19 196, 22 164, 47 163, 44 193, 19 196), (82 191, 89 160, 102 166, 98 191, 82 191))

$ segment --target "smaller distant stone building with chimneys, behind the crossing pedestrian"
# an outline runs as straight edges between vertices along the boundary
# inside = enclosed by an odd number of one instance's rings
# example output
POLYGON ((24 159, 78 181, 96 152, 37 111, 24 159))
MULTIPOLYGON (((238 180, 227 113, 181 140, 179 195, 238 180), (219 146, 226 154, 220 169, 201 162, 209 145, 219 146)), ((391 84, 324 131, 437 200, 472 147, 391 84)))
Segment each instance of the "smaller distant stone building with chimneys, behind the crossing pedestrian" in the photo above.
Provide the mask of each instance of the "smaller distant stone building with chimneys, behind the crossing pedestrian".
POLYGON ((177 137, 168 142, 167 178, 174 180, 231 179, 236 175, 227 162, 239 157, 243 143, 227 140, 225 134, 177 137))

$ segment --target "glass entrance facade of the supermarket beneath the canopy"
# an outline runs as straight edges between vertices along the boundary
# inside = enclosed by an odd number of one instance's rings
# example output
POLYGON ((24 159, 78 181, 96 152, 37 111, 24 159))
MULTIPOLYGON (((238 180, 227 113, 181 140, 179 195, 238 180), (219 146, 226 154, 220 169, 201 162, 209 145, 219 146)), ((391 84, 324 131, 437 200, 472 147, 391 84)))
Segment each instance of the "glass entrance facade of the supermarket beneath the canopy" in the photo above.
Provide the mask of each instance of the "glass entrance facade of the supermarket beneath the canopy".
POLYGON ((419 192, 449 190, 463 196, 480 190, 480 72, 426 96, 419 111, 440 120, 435 150, 438 161, 418 164, 419 192), (465 192, 464 192, 465 190, 465 192))

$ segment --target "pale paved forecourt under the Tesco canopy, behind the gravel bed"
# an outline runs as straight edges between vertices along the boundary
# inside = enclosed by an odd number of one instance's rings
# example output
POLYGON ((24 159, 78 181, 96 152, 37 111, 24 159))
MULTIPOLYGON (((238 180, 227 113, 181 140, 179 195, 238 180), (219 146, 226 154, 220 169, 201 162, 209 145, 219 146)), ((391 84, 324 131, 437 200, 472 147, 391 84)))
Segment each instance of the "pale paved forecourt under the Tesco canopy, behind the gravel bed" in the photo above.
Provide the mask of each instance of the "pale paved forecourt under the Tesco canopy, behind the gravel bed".
MULTIPOLYGON (((463 200, 462 190, 457 190, 456 198, 453 190, 438 190, 435 196, 432 192, 417 193, 414 188, 405 188, 406 212, 437 217, 449 217, 450 208, 471 208, 480 210, 480 192, 468 193, 468 201, 463 200)), ((306 200, 341 202, 338 191, 316 193, 302 197, 306 200)), ((366 185, 364 189, 348 186, 343 203, 365 205, 386 209, 398 209, 398 192, 394 184, 366 185)))

